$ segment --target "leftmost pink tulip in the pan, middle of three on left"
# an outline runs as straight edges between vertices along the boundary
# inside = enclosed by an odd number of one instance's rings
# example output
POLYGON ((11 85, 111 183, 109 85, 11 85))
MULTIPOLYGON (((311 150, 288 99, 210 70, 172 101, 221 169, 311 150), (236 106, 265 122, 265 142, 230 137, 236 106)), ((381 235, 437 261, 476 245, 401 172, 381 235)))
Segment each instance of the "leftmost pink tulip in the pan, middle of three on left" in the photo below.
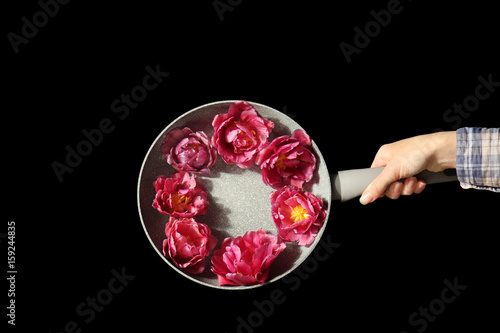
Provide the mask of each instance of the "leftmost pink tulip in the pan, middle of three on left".
POLYGON ((185 171, 177 172, 171 178, 159 176, 153 186, 156 190, 153 207, 162 214, 189 218, 207 212, 207 191, 185 171))

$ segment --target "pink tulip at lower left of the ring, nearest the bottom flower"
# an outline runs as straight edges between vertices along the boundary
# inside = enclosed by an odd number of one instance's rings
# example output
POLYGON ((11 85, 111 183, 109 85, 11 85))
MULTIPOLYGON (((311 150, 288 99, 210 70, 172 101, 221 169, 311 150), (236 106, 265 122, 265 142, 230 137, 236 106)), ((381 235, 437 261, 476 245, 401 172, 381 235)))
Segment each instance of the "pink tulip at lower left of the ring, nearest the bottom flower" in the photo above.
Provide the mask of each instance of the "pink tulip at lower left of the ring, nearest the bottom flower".
POLYGON ((210 229, 193 218, 170 217, 165 226, 167 239, 163 241, 163 255, 188 273, 205 270, 205 257, 213 250, 217 239, 210 229))

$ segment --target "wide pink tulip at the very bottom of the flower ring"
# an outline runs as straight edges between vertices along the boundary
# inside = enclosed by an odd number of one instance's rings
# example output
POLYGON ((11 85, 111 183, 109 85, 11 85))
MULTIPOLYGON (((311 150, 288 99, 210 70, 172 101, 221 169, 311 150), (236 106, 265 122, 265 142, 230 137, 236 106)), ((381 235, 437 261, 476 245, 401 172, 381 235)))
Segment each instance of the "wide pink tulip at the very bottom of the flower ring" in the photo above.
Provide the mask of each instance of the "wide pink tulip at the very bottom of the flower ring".
POLYGON ((212 272, 217 274, 221 286, 264 284, 269 267, 285 247, 278 237, 263 229, 228 237, 214 252, 212 272))

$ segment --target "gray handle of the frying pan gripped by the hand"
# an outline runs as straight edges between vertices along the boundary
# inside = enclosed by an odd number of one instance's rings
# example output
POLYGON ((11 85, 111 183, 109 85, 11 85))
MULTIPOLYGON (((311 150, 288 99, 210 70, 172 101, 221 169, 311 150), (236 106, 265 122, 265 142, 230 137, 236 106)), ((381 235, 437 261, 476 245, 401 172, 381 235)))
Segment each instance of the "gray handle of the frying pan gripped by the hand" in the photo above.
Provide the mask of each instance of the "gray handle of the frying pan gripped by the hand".
MULTIPOLYGON (((345 202, 360 196, 383 169, 384 167, 339 171, 338 175, 332 177, 333 199, 345 202)), ((427 184, 458 180, 454 169, 447 169, 442 172, 425 170, 417 174, 416 177, 424 180, 427 184)))

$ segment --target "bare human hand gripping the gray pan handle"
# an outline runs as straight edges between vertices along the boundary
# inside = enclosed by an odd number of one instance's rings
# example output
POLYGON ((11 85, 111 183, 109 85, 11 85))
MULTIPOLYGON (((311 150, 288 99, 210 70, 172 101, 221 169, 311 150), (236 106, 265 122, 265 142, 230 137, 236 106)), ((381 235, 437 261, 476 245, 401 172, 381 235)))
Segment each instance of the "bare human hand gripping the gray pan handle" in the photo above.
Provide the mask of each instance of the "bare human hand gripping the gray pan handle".
POLYGON ((380 147, 371 165, 385 166, 361 195, 359 201, 369 204, 386 195, 397 199, 400 195, 420 193, 425 182, 414 175, 429 170, 439 172, 456 167, 456 133, 438 132, 419 135, 380 147), (399 181, 406 178, 404 182, 399 181))

